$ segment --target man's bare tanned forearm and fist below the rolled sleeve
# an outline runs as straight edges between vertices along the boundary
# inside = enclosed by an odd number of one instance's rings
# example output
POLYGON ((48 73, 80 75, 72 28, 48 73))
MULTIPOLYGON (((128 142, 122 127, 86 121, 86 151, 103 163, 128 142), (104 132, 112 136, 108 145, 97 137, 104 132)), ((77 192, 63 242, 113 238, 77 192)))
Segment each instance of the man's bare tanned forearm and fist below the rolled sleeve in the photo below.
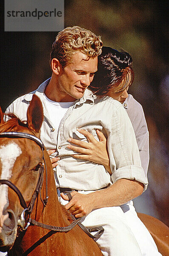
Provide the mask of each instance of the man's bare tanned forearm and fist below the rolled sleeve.
MULTIPOLYGON (((88 215, 93 209, 112 207, 125 204, 143 192, 143 184, 136 180, 120 179, 106 189, 100 189, 87 195, 73 191, 72 200, 66 204, 66 209, 80 218, 88 215)), ((64 200, 67 195, 61 193, 64 200)))

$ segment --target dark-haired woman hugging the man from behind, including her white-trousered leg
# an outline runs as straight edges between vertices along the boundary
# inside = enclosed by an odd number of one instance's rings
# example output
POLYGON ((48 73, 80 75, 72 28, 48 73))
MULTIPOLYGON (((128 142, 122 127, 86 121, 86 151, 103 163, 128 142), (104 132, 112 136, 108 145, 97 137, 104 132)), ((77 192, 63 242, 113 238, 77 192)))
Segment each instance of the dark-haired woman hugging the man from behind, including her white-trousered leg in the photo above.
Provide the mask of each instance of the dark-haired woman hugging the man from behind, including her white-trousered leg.
MULTIPOLYGON (((132 57, 129 53, 118 52, 110 47, 103 47, 102 54, 98 57, 98 71, 89 89, 97 96, 109 96, 123 104, 132 122, 140 151, 141 164, 147 175, 149 164, 149 132, 142 106, 132 95, 128 95, 127 93, 133 79, 132 57)), ((102 164, 109 174, 112 175, 109 166, 109 155, 106 150, 106 137, 104 134, 97 130, 99 138, 99 141, 97 141, 88 131, 82 129, 78 129, 78 131, 87 137, 89 143, 70 138, 69 142, 71 142, 71 144, 68 147, 80 153, 74 154, 73 157, 102 164)), ((126 223, 135 234, 142 254, 144 256, 158 254, 155 242, 146 227, 137 217, 132 201, 122 205, 121 208, 125 213, 126 223)))

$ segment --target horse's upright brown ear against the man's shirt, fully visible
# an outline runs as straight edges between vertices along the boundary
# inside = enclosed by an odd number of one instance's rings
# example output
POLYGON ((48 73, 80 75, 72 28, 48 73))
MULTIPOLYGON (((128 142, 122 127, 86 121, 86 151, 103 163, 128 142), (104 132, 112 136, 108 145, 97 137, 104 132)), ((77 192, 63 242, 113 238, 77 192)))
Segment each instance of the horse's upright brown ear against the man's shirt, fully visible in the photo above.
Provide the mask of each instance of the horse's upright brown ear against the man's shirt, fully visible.
POLYGON ((43 122, 43 107, 40 99, 34 94, 27 111, 28 128, 38 132, 43 122))

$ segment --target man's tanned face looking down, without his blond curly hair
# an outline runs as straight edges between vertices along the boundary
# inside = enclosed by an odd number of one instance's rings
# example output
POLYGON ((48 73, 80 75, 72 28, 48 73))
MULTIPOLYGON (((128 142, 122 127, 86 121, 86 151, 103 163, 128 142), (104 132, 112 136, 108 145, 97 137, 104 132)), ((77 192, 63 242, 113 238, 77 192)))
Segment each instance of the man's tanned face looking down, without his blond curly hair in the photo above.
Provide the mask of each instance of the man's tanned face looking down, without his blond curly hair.
POLYGON ((82 98, 97 71, 97 57, 89 58, 80 51, 72 55, 70 62, 61 68, 58 76, 60 102, 73 102, 82 98))

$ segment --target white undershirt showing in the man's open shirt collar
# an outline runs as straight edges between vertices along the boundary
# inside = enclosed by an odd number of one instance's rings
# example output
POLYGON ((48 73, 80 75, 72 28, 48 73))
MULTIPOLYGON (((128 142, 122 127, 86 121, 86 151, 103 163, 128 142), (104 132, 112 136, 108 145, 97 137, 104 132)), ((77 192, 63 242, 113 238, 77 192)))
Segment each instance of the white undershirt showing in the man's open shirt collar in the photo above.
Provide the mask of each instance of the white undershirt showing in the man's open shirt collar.
POLYGON ((49 119, 54 124, 55 130, 58 131, 60 121, 62 120, 68 108, 72 106, 74 102, 54 102, 48 97, 46 97, 45 93, 44 93, 44 98, 46 100, 49 119))

